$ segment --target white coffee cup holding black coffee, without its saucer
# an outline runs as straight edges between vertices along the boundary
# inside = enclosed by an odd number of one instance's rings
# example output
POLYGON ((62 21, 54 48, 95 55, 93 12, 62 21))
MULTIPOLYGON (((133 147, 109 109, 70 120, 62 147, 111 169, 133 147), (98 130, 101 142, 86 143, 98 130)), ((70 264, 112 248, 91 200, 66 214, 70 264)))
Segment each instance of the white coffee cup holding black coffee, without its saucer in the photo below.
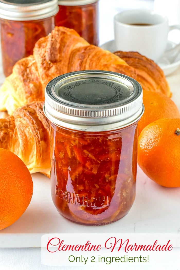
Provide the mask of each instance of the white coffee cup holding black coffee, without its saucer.
POLYGON ((180 25, 169 26, 168 18, 151 10, 126 10, 114 16, 116 50, 136 51, 155 62, 165 52, 168 33, 180 25))

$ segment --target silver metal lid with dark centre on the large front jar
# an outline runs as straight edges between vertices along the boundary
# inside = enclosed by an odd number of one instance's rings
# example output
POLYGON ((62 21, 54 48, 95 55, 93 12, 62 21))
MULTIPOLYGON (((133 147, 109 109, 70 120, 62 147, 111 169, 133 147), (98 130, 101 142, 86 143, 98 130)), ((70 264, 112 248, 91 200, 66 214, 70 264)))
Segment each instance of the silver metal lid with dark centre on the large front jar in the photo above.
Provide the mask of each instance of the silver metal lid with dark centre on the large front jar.
POLYGON ((45 90, 44 113, 57 126, 113 130, 138 121, 143 112, 140 84, 115 72, 66 73, 51 80, 45 90))

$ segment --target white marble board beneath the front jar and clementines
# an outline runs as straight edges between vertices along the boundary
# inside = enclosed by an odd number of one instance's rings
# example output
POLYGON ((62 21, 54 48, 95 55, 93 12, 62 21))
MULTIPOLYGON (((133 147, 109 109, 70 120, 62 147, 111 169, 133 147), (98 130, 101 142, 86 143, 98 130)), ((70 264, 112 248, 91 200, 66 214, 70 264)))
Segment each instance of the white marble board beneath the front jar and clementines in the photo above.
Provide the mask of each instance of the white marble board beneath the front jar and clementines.
MULTIPOLYGON (((180 188, 164 188, 148 179, 138 168, 137 194, 130 212, 113 224, 92 227, 64 219, 53 205, 50 181, 34 174, 33 197, 25 213, 0 231, 0 247, 40 247, 46 233, 179 234, 180 188), (173 220, 173 222, 172 222, 173 220)), ((180 247, 180 241, 176 244, 180 247)))

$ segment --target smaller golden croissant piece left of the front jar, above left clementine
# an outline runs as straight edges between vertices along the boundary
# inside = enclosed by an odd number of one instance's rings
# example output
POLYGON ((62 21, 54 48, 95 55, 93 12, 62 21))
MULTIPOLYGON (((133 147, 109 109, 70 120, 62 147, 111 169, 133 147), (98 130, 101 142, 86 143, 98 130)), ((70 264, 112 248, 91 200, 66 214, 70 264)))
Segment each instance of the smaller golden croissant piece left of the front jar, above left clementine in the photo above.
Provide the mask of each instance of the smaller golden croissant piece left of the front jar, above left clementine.
POLYGON ((19 107, 11 116, 0 119, 0 148, 19 156, 30 173, 50 177, 49 121, 43 103, 19 107))

